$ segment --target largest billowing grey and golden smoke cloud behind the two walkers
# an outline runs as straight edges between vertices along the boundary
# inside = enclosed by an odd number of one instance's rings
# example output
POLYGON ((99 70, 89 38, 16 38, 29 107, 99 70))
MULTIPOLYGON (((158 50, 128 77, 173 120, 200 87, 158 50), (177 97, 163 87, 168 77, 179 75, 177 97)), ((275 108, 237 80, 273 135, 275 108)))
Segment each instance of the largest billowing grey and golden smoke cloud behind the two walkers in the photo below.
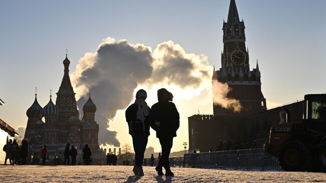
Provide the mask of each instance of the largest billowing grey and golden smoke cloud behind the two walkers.
MULTIPOLYGON (((108 37, 97 52, 86 53, 79 60, 71 79, 79 109, 85 104, 87 93, 92 93, 98 109, 99 142, 120 146, 117 132, 109 129, 110 122, 118 110, 124 110, 134 99, 137 87, 170 87, 175 89, 175 98, 192 98, 204 89, 211 89, 212 74, 213 67, 206 56, 186 53, 172 41, 160 43, 152 51, 143 44, 108 37)), ((228 101, 225 96, 223 99, 228 101)), ((236 105, 226 105, 233 106, 236 105)))

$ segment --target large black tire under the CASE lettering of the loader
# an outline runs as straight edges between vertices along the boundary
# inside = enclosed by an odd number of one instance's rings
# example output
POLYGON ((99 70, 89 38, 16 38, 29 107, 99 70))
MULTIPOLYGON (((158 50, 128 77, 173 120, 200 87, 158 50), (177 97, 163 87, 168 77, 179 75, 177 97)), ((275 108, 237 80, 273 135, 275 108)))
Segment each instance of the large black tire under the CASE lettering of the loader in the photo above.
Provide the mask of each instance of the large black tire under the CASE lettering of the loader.
POLYGON ((279 164, 285 171, 306 171, 310 168, 311 155, 301 142, 285 142, 279 151, 279 164))

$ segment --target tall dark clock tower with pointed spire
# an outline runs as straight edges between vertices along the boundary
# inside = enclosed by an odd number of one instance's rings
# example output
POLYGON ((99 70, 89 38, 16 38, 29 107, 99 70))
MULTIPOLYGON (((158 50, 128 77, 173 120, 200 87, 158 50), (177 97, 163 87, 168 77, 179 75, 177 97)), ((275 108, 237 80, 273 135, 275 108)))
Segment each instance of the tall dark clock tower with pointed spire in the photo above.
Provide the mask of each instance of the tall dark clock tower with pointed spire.
POLYGON ((214 70, 213 80, 227 83, 231 88, 227 97, 239 100, 243 108, 241 112, 235 113, 231 109, 214 104, 214 115, 245 116, 266 110, 266 99, 261 92, 258 60, 256 68, 250 70, 249 51, 245 42, 244 21, 239 19, 235 0, 231 0, 227 22, 223 22, 221 68, 214 70))

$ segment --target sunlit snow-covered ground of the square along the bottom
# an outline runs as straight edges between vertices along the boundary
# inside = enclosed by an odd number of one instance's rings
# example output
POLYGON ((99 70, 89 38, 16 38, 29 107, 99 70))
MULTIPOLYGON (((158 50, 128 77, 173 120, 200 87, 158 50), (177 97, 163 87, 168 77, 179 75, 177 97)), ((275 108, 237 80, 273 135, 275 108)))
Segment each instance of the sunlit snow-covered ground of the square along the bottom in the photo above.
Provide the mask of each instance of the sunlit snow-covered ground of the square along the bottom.
POLYGON ((172 168, 174 177, 157 176, 144 167, 135 177, 132 166, 0 165, 0 182, 326 182, 326 173, 237 171, 172 168))

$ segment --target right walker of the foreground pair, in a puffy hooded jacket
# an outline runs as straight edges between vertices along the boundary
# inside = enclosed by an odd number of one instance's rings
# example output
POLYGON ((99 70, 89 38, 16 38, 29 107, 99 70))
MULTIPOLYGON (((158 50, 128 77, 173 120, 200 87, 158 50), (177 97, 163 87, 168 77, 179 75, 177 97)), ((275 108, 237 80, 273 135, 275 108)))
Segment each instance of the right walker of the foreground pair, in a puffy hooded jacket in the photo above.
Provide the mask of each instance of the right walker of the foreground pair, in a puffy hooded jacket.
POLYGON ((170 168, 169 156, 173 145, 173 138, 177 136, 180 126, 180 116, 173 101, 173 94, 165 88, 157 90, 158 102, 151 106, 151 117, 155 125, 156 137, 162 148, 162 156, 159 158, 155 170, 158 175, 163 175, 162 167, 166 169, 167 176, 173 176, 170 168))

